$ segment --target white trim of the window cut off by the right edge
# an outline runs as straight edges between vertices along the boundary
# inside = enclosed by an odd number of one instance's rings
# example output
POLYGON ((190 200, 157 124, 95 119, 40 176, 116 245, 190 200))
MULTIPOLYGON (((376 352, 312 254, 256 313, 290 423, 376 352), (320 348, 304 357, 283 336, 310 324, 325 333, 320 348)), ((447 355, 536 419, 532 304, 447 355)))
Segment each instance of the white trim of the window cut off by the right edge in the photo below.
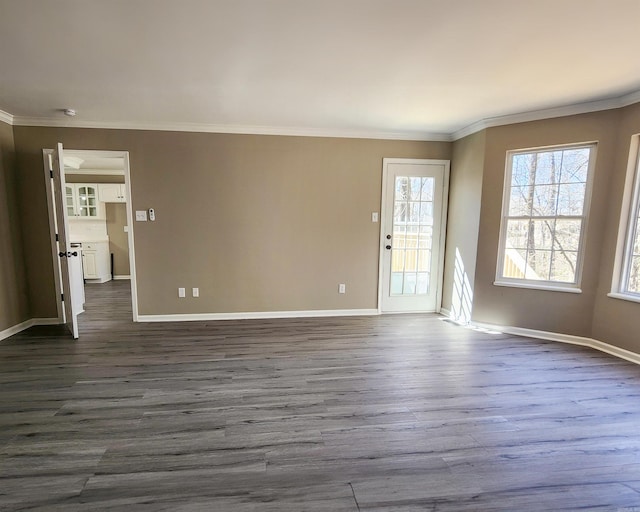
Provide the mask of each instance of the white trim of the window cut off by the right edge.
POLYGON ((613 265, 613 278, 611 280, 611 293, 608 297, 614 299, 640 302, 640 294, 626 291, 629 265, 631 264, 631 251, 633 250, 633 237, 638 209, 640 208, 640 134, 631 137, 629 146, 629 159, 627 161, 627 174, 622 195, 622 207, 620 211, 620 224, 618 226, 618 238, 616 242, 616 257, 613 265))

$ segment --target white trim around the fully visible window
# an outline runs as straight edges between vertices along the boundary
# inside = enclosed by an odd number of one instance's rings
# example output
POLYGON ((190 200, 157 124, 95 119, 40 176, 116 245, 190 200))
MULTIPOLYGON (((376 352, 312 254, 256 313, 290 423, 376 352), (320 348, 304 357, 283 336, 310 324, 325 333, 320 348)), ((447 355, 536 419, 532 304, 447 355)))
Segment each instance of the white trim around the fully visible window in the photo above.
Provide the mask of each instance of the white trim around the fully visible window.
POLYGON ((587 230, 589 226, 589 214, 591 211, 591 192, 593 189, 593 175, 595 171, 595 163, 597 159, 598 144, 597 141, 590 142, 578 142, 575 144, 560 144, 555 146, 541 146, 536 148, 517 149, 507 151, 504 183, 502 189, 502 213, 500 218, 500 237, 498 241, 498 258, 496 266, 496 279, 494 281, 495 286, 507 286, 512 288, 527 288, 532 290, 547 290, 555 292, 565 293, 582 293, 582 270, 584 267, 584 253, 585 242, 587 236, 587 230), (529 154, 529 153, 542 153, 546 151, 554 150, 566 150, 566 149, 580 149, 590 148, 589 155, 589 167, 587 169, 587 182, 585 189, 584 204, 582 209, 582 230, 580 233, 580 241, 578 242, 578 259, 576 266, 576 279, 572 283, 560 282, 560 281, 543 281, 534 279, 514 279, 504 277, 502 271, 504 269, 504 256, 506 250, 506 231, 507 231, 507 219, 509 217, 509 200, 511 197, 511 176, 512 176, 512 163, 513 156, 516 154, 529 154))

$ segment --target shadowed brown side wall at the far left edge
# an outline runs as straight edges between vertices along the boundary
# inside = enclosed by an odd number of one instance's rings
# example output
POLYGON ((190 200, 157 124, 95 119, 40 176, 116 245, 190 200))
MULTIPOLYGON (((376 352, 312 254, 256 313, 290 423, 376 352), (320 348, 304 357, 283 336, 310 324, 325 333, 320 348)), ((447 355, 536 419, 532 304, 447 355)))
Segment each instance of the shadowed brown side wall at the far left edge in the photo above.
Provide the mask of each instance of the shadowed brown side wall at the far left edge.
POLYGON ((0 122, 0 331, 30 318, 17 188, 13 130, 0 122))

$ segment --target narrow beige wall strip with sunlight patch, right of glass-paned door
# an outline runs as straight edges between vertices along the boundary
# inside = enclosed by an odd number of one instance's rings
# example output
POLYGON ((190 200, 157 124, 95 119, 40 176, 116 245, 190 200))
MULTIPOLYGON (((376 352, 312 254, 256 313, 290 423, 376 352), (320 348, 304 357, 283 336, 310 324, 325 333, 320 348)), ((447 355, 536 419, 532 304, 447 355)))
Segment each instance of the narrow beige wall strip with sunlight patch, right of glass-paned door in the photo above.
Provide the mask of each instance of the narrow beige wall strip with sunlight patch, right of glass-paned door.
POLYGON ((470 320, 478 249, 486 132, 453 144, 442 307, 470 320))

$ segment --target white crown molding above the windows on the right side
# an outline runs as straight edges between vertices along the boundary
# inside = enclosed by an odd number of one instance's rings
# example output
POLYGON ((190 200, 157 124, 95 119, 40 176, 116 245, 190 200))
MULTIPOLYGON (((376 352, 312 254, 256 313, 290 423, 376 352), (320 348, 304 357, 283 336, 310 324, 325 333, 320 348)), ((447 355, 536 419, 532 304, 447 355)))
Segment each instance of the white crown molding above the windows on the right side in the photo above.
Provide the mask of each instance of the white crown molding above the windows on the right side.
POLYGON ((487 128, 495 128, 497 126, 516 123, 526 123, 529 121, 540 121, 543 119, 552 119, 554 117, 588 114, 589 112, 599 112, 602 110, 614 110, 617 108, 627 107, 638 102, 640 102, 640 91, 635 91, 630 94, 625 94, 624 96, 618 96, 616 98, 609 98, 606 100, 589 101, 562 107, 533 110, 531 112, 520 112, 505 116, 489 117, 487 119, 476 121, 475 123, 453 132, 451 134, 451 140, 456 141, 476 132, 486 130, 487 128))

